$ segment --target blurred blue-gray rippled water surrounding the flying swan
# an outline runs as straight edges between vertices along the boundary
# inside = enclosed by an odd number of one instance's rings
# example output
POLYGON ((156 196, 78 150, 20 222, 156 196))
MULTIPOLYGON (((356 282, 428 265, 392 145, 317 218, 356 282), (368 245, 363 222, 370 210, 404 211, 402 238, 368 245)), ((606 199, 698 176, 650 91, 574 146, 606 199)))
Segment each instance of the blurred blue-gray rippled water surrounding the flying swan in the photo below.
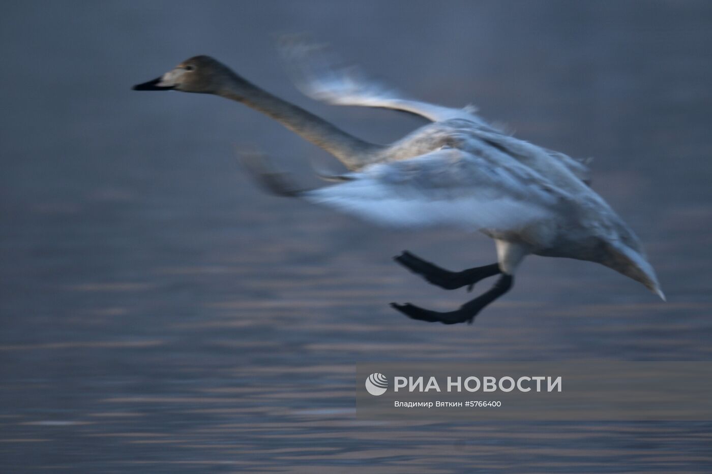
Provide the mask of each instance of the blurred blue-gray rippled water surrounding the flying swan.
POLYGON ((712 4, 705 1, 70 2, 0 6, 0 472, 709 472, 710 423, 357 421, 355 363, 712 358, 712 4), (394 265, 493 245, 395 232, 258 192, 233 145, 325 154, 237 104, 135 93, 197 53, 341 127, 274 39, 308 31, 424 100, 595 157, 669 302, 591 263, 530 258, 473 326, 394 265))

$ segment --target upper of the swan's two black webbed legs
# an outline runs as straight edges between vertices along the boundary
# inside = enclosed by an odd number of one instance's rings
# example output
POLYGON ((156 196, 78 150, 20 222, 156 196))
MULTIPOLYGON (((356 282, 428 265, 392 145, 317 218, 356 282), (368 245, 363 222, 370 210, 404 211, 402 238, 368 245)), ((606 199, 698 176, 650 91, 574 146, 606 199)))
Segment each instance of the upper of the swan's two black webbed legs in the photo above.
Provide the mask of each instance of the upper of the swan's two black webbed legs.
POLYGON ((412 271, 412 273, 421 275, 429 283, 444 288, 445 290, 456 290, 457 288, 462 288, 467 285, 467 290, 472 291, 472 287, 479 280, 501 273, 498 263, 468 268, 461 272, 451 272, 414 256, 409 251, 404 251, 399 256, 394 257, 393 260, 396 260, 405 268, 412 271))

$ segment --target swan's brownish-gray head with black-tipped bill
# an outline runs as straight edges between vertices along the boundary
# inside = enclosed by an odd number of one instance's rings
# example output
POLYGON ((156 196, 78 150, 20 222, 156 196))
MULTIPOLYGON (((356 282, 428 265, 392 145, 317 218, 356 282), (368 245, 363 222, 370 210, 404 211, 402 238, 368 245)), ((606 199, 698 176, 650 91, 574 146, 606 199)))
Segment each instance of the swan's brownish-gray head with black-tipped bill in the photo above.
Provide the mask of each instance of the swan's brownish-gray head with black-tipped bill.
POLYGON ((218 94, 226 83, 236 79, 239 79, 239 76, 219 60, 210 56, 194 56, 159 78, 137 84, 132 89, 218 94))

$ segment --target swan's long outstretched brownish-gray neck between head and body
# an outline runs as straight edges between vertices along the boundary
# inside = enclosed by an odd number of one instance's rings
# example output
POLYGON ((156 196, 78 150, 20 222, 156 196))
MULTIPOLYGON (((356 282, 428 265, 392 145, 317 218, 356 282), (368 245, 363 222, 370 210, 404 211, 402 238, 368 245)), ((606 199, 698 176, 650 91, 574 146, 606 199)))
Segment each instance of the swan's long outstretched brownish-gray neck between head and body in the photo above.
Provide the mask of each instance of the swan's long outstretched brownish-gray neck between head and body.
POLYGON ((231 78, 217 95, 244 103, 272 117, 289 130, 333 154, 349 169, 358 169, 372 161, 373 158, 369 155, 382 148, 340 130, 313 113, 278 98, 239 76, 231 78))

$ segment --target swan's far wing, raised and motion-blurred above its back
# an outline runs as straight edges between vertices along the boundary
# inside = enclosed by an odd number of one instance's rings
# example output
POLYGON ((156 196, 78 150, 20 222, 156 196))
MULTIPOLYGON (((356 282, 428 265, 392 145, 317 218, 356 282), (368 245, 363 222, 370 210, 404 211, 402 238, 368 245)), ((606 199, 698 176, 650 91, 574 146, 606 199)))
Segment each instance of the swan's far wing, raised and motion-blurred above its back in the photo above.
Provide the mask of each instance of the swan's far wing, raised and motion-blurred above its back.
POLYGON ((315 100, 332 105, 402 110, 433 122, 459 118, 486 125, 476 115, 476 107, 471 105, 454 109, 404 98, 396 90, 369 80, 357 66, 345 65, 324 45, 308 43, 301 38, 286 38, 282 42, 282 51, 297 87, 315 100))

